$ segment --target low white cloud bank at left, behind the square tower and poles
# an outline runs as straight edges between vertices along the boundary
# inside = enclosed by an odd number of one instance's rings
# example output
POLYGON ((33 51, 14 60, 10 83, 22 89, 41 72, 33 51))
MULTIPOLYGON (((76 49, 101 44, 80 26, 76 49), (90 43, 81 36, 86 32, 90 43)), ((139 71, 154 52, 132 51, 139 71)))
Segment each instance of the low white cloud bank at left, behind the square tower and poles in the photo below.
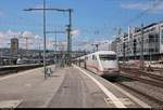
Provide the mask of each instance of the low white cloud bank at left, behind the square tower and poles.
MULTIPOLYGON (((8 31, 0 31, 0 47, 10 47, 10 40, 11 38, 18 38, 18 44, 20 44, 20 49, 26 49, 26 39, 24 39, 24 37, 29 38, 28 39, 28 47, 29 50, 32 49, 39 49, 39 46, 41 47, 41 50, 43 49, 43 39, 42 37, 35 35, 32 31, 25 30, 25 31, 13 31, 13 30, 8 30, 8 31), (21 36, 22 35, 22 36, 21 36)), ((52 39, 47 39, 46 41, 46 45, 47 45, 47 50, 54 50, 54 41, 52 39)), ((66 41, 60 41, 57 42, 57 44, 59 45, 58 49, 59 50, 66 50, 66 45, 67 42, 66 41)))

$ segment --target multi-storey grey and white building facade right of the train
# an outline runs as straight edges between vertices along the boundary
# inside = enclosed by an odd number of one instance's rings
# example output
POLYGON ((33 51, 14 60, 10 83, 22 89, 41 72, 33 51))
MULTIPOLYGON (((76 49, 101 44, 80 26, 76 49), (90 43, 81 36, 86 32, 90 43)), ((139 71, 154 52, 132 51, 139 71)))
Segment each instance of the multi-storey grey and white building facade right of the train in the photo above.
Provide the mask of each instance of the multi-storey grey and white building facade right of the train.
POLYGON ((112 42, 112 50, 120 59, 163 60, 163 22, 152 23, 143 28, 128 28, 112 42), (141 51, 143 50, 143 51, 141 51))

